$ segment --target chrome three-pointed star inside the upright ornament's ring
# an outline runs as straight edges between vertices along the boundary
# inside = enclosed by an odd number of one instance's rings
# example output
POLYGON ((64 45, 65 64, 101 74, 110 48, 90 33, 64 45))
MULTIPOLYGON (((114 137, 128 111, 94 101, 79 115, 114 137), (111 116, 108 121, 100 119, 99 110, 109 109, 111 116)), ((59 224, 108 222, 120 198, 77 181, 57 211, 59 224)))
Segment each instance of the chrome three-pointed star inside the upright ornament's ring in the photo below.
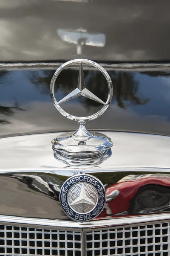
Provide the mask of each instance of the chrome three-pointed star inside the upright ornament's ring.
POLYGON ((85 78, 84 78, 84 74, 83 74, 82 63, 80 63, 80 66, 79 66, 79 78, 78 78, 77 88, 74 89, 67 96, 65 96, 63 99, 61 99, 58 102, 58 104, 66 102, 70 99, 74 99, 79 96, 85 96, 86 98, 93 99, 94 101, 99 102, 103 105, 106 104, 101 99, 99 99, 96 95, 94 95, 94 93, 92 93, 87 88, 85 88, 85 78))

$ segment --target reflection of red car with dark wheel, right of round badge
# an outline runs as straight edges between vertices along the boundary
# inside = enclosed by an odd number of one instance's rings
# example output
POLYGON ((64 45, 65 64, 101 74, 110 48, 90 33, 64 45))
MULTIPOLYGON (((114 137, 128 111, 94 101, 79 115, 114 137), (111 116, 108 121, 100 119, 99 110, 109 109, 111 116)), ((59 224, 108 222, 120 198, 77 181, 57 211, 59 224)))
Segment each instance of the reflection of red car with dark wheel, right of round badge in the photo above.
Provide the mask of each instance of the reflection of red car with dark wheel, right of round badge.
POLYGON ((170 175, 129 175, 106 189, 104 215, 170 212, 170 175))

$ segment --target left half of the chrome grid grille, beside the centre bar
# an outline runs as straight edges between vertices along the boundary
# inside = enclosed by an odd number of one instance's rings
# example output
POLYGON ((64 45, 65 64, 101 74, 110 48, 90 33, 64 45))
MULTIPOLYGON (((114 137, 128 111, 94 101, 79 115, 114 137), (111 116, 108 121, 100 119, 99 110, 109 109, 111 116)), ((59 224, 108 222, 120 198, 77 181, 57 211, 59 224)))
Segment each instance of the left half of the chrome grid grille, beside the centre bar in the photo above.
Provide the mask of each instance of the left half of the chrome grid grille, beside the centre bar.
POLYGON ((0 225, 0 256, 80 256, 81 240, 81 232, 0 225))

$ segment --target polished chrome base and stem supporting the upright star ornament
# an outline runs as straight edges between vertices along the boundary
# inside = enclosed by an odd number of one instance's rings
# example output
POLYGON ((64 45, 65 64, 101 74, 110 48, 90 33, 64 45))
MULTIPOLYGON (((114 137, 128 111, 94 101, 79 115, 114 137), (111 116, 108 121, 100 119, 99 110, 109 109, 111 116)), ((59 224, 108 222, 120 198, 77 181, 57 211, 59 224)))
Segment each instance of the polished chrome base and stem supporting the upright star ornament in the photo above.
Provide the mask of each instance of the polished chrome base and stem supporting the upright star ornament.
POLYGON ((113 143, 105 134, 88 132, 80 124, 75 132, 66 132, 52 140, 52 148, 64 157, 99 157, 111 148, 113 143))

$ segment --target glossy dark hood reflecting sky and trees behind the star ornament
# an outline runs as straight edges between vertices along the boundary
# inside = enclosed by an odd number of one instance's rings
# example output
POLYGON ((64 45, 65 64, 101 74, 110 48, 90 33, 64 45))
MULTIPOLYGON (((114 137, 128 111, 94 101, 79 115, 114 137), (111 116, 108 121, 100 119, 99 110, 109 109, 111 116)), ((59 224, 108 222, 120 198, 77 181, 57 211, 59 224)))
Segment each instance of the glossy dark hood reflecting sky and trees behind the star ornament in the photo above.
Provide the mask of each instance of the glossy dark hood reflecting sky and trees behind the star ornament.
MULTIPOLYGON (((51 102, 49 86, 54 71, 0 71, 0 136, 77 128, 77 123, 62 116, 51 102)), ((86 127, 170 135, 170 72, 108 73, 113 82, 111 105, 86 127)), ((102 74, 95 70, 84 70, 84 74, 86 87, 105 101, 107 84, 102 74)), ((63 71, 55 87, 57 99, 76 88, 77 80, 78 70, 63 71)), ((62 104, 65 111, 80 116, 101 107, 82 96, 62 104)))

